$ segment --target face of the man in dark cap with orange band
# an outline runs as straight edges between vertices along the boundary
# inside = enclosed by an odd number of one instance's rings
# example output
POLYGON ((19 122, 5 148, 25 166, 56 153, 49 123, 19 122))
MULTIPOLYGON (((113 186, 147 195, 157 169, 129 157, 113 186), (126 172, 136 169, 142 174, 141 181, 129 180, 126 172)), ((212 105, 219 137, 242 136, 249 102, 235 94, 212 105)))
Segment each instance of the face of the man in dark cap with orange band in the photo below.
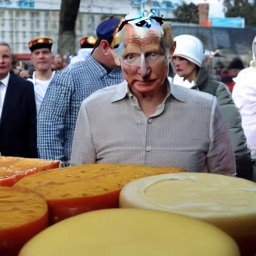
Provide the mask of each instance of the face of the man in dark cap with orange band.
POLYGON ((35 70, 48 70, 51 68, 52 56, 48 48, 37 49, 32 52, 32 63, 35 70))

